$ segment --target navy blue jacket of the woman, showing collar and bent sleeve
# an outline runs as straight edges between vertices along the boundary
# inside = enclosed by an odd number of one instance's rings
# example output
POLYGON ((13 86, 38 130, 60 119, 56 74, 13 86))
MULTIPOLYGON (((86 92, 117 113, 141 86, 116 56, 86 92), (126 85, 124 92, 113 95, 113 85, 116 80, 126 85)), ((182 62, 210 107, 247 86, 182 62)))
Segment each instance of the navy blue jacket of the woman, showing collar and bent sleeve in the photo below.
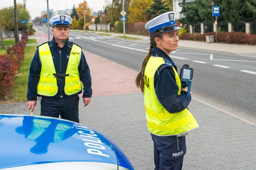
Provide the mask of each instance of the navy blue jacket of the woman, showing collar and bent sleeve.
MULTIPOLYGON (((169 113, 183 111, 191 101, 191 96, 189 100, 187 100, 186 91, 181 91, 181 94, 178 95, 179 87, 176 84, 175 73, 172 69, 174 67, 177 71, 177 67, 170 56, 157 47, 152 49, 152 56, 162 57, 165 62, 168 63, 158 68, 158 75, 157 77, 155 76, 156 79, 154 79, 158 101, 169 113)), ((157 74, 157 72, 155 74, 157 74)))

